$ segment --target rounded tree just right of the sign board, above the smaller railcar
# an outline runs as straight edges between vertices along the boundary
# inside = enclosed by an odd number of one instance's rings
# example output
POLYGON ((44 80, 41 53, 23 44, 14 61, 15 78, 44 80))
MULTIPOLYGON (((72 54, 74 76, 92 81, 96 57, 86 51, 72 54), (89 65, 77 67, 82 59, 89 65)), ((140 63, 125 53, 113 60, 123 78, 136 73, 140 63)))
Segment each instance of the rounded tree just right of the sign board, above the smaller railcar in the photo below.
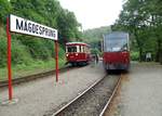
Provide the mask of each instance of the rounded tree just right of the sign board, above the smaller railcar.
POLYGON ((77 22, 77 18, 72 12, 62 10, 57 17, 57 27, 59 30, 59 39, 62 43, 68 41, 81 40, 81 33, 79 27, 81 25, 77 22))

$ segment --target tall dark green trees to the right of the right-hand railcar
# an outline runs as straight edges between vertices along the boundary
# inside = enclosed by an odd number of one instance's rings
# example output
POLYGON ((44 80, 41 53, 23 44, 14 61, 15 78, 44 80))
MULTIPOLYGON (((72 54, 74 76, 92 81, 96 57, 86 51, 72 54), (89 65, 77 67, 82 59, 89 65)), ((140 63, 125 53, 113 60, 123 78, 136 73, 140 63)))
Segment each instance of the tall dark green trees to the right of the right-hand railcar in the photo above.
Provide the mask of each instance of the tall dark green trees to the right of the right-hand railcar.
POLYGON ((162 1, 127 0, 123 4, 113 30, 126 30, 138 47, 139 60, 150 51, 156 61, 162 62, 162 1))

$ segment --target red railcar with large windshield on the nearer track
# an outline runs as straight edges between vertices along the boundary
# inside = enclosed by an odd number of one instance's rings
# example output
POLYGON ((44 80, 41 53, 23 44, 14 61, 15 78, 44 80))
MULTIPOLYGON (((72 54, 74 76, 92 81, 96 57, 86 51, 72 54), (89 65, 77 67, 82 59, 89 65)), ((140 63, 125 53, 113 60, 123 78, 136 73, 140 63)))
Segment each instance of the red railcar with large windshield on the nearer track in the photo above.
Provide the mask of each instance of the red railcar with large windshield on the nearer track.
POLYGON ((129 34, 112 31, 104 35, 103 63, 105 69, 130 68, 130 44, 129 34))

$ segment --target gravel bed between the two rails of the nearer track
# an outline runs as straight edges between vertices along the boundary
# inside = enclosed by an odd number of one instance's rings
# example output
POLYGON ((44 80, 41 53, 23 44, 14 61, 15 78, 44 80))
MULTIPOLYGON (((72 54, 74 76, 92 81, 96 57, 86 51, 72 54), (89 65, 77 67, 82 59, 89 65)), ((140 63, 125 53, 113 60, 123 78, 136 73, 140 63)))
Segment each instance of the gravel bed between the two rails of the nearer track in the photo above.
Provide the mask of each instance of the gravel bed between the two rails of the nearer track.
POLYGON ((97 86, 72 103, 60 116, 98 116, 107 103, 120 75, 105 77, 97 86))

